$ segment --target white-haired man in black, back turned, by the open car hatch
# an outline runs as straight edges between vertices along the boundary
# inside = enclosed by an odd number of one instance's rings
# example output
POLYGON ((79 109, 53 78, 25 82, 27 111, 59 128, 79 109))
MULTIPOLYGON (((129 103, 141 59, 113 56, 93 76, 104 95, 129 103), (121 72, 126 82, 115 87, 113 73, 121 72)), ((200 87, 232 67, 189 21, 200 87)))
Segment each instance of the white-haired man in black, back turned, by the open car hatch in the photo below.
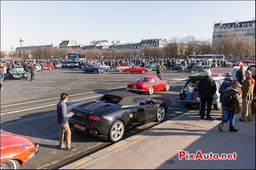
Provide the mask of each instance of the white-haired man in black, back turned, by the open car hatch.
MULTIPOLYGON (((211 108, 212 108, 212 98, 213 95, 216 93, 217 87, 215 81, 211 78, 212 72, 211 70, 206 70, 204 72, 204 77, 199 80, 198 84, 198 91, 200 95, 200 102, 202 106, 205 106, 207 103, 207 115, 206 120, 211 120, 211 108)), ((200 118, 204 119, 204 107, 201 107, 200 111, 201 115, 200 118)))

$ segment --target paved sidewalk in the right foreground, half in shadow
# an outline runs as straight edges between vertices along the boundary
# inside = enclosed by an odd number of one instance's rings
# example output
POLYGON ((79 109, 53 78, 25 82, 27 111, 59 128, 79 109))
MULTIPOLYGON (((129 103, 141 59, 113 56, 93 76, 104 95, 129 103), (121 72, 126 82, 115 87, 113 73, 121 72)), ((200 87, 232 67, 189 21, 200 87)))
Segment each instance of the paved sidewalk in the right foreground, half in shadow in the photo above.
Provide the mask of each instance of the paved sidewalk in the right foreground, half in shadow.
POLYGON ((213 121, 204 121, 197 111, 187 112, 60 169, 255 169, 255 115, 252 122, 241 122, 238 115, 238 132, 229 132, 229 124, 220 132, 220 115, 213 110, 213 121), (179 160, 181 150, 236 152, 237 158, 179 160))

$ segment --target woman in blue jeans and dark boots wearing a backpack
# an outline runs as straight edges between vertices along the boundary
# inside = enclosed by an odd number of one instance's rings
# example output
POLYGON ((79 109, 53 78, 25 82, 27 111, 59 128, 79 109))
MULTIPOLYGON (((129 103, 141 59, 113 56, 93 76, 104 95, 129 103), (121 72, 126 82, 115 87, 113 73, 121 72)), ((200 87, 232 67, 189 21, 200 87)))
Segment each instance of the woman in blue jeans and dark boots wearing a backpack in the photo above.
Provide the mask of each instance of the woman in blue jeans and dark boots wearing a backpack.
POLYGON ((236 114, 240 113, 239 95, 241 94, 240 83, 235 81, 232 87, 228 87, 224 92, 223 103, 227 117, 220 123, 219 130, 222 132, 223 127, 229 121, 229 131, 237 132, 234 129, 236 114))

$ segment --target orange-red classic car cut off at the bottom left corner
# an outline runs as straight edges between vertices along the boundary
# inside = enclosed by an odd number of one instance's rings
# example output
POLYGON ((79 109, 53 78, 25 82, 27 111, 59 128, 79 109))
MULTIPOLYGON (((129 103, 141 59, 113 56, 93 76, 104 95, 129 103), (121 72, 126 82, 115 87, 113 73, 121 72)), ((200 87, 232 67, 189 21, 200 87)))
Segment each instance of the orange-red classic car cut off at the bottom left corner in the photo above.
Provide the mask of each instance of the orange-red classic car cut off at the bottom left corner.
POLYGON ((1 130, 1 169, 19 169, 38 153, 35 145, 26 137, 1 130))

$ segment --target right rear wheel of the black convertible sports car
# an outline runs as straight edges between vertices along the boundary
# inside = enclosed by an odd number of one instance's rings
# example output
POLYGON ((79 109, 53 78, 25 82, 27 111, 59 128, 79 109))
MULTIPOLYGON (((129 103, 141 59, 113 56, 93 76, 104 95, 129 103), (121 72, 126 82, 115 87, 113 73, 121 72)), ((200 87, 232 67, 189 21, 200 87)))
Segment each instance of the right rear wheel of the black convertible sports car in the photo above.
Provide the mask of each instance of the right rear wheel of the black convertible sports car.
POLYGON ((115 121, 109 129, 108 140, 116 142, 120 140, 124 135, 124 123, 121 121, 115 121))

